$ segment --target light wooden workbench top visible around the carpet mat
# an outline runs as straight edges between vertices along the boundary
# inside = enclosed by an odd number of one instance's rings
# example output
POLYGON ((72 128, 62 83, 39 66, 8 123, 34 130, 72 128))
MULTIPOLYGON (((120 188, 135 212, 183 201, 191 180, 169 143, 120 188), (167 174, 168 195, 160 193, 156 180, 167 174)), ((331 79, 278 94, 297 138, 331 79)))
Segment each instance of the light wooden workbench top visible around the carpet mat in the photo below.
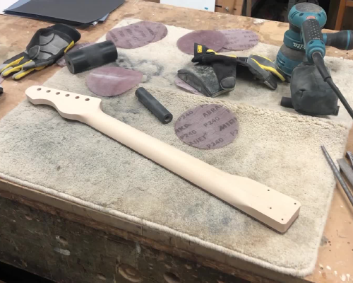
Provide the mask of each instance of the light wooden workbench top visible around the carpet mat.
MULTIPOLYGON (((11 16, 0 18, 0 62, 23 52, 35 31, 50 25, 11 16)), ((191 30, 244 28, 255 31, 261 42, 277 46, 282 45, 283 35, 288 29, 287 23, 126 0, 126 3, 114 11, 104 24, 80 29, 82 34, 80 42, 94 42, 123 18, 140 18, 191 30)), ((353 59, 353 52, 328 47, 327 56, 353 59)), ((25 98, 26 88, 44 83, 59 69, 60 67, 52 66, 18 82, 6 79, 2 83, 5 93, 0 97, 0 118, 25 98)), ((349 141, 352 140, 351 132, 349 141)), ((347 146, 347 149, 353 150, 353 143, 349 144, 351 146, 347 146)), ((349 280, 349 276, 353 277, 353 209, 339 187, 333 197, 316 270, 306 279, 313 282, 344 282, 349 280)))

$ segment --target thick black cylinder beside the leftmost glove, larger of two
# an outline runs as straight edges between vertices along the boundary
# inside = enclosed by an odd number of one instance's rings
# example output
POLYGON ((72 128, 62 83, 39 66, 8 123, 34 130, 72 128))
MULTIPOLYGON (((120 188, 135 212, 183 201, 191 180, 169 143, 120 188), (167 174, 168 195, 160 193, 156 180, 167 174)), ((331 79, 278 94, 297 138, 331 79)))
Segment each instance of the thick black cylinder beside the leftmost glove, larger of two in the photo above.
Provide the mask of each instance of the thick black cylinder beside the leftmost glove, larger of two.
POLYGON ((72 74, 115 62, 116 59, 118 59, 118 51, 110 40, 65 54, 66 66, 72 74))

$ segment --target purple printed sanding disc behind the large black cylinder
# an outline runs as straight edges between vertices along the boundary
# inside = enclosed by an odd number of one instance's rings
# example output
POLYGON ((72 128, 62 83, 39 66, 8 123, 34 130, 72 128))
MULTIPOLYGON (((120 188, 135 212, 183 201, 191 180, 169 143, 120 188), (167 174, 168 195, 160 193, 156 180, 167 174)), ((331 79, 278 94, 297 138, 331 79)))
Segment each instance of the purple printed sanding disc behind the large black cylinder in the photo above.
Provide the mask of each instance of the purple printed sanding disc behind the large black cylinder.
POLYGON ((167 33, 168 30, 162 23, 140 21, 110 30, 107 33, 107 40, 112 40, 116 47, 133 49, 162 40, 167 33))

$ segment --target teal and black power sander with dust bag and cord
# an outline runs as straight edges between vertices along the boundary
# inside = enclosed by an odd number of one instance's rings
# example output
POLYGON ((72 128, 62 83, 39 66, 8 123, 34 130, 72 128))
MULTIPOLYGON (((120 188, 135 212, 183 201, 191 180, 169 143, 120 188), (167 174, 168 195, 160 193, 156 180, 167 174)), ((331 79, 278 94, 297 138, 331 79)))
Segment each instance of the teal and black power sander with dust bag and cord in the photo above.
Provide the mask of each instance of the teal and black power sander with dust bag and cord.
POLYGON ((333 83, 325 67, 325 45, 340 50, 353 49, 353 32, 321 33, 327 16, 323 8, 299 3, 288 15, 289 30, 277 54, 277 70, 291 82, 292 98, 282 98, 281 105, 306 115, 337 115, 337 98, 353 119, 353 110, 333 83))

